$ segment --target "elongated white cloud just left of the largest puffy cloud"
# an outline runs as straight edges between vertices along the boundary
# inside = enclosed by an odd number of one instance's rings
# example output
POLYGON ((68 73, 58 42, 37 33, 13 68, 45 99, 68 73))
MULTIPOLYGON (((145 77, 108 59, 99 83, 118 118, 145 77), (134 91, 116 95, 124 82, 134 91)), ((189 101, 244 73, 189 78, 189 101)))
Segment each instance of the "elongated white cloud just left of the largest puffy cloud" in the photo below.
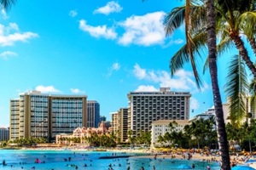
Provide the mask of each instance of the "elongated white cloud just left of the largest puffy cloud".
POLYGON ((115 39, 117 37, 117 33, 113 30, 113 28, 107 28, 104 26, 90 26, 87 25, 86 20, 79 21, 79 28, 82 31, 89 32, 92 37, 105 37, 107 39, 115 39))

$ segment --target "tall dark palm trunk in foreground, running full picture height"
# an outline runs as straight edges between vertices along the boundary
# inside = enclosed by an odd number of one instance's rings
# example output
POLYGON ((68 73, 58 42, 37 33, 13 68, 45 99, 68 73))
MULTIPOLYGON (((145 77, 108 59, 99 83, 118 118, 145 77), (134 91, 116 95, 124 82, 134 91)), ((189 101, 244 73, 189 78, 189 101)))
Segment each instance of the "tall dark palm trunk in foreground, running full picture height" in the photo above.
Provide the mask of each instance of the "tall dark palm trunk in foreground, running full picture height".
POLYGON ((224 125, 224 114, 222 109, 222 101, 218 88, 218 72, 216 64, 216 31, 215 31, 215 14, 214 0, 207 0, 207 46, 209 53, 209 70, 212 80, 212 94, 216 114, 218 146, 221 156, 222 170, 230 170, 230 154, 228 147, 228 139, 224 125))

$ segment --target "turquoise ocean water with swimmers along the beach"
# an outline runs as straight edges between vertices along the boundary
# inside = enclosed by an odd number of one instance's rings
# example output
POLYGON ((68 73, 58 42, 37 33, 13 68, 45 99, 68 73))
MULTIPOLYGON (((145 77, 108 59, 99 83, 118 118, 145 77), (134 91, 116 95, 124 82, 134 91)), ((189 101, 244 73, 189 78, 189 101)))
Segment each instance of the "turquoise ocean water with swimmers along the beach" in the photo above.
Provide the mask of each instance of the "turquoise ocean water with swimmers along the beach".
POLYGON ((119 152, 94 152, 94 151, 72 151, 72 150, 0 150, 0 169, 34 169, 40 170, 71 170, 87 169, 87 170, 108 170, 109 164, 113 170, 140 170, 144 167, 145 170, 152 170, 153 166, 156 170, 172 170, 180 165, 195 164, 195 169, 207 170, 207 166, 211 170, 219 169, 218 162, 206 162, 195 160, 177 160, 177 159, 149 159, 149 158, 119 158, 119 159, 99 159, 101 156, 117 156, 131 155, 130 153, 119 152), (70 157, 70 161, 68 158, 70 157), (39 163, 35 163, 38 158, 39 163), (65 159, 67 161, 65 161, 65 159), (7 166, 3 166, 3 160, 7 166), (87 167, 84 167, 84 164, 87 167))

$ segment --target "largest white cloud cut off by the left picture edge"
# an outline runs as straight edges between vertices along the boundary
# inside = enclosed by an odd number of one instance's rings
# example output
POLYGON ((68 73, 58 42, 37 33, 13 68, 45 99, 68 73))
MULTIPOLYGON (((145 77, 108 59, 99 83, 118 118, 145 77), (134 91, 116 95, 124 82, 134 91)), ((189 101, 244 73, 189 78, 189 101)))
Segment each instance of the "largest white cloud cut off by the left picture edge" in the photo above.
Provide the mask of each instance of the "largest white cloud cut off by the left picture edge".
POLYGON ((27 42, 34 37, 38 37, 38 34, 31 31, 21 33, 15 23, 9 23, 9 26, 0 24, 0 46, 12 46, 15 42, 27 42))

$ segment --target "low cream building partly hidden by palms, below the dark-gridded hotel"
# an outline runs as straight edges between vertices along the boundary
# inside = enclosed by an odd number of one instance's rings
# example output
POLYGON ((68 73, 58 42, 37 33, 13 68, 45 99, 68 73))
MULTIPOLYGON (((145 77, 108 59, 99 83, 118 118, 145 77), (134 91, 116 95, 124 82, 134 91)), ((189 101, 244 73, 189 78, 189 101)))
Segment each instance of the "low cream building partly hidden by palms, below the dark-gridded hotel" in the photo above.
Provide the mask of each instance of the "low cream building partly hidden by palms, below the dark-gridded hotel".
POLYGON ((164 136, 165 133, 171 133, 171 127, 169 124, 172 123, 173 130, 176 132, 183 131, 183 127, 189 125, 189 120, 159 120, 152 122, 152 129, 151 129, 151 147, 161 147, 166 145, 171 145, 169 142, 162 142, 158 141, 159 136, 164 136), (176 123, 175 123, 176 122, 176 123))

